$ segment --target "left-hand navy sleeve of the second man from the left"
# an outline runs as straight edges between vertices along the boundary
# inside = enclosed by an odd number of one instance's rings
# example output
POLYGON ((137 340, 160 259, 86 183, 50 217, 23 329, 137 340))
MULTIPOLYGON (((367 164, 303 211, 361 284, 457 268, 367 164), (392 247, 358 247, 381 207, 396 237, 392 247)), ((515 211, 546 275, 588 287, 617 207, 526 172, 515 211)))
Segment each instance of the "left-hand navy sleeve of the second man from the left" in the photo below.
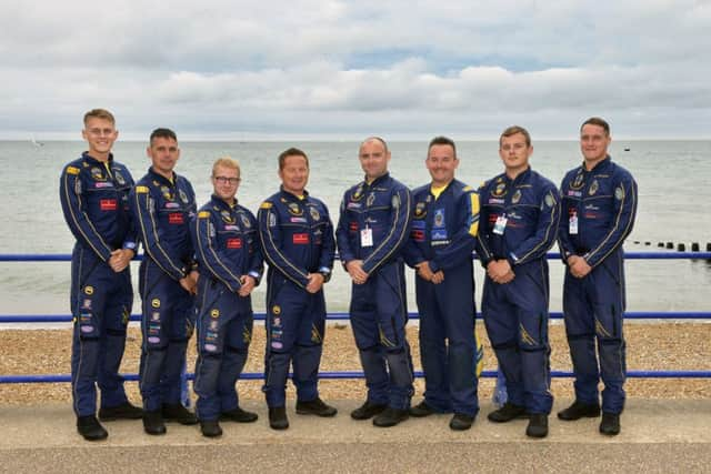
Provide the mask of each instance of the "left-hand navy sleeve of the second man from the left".
POLYGON ((190 269, 184 269, 173 249, 161 242, 161 230, 156 222, 154 200, 150 189, 137 185, 132 192, 133 220, 139 230, 146 253, 173 280, 181 280, 190 269))

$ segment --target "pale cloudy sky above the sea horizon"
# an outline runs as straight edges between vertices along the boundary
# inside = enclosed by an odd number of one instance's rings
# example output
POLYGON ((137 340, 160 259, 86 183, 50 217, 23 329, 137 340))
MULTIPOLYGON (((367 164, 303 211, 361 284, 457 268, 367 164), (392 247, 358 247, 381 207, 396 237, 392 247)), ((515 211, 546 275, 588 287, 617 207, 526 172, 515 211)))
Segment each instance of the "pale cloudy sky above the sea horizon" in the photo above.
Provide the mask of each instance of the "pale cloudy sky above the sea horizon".
POLYGON ((169 1, 0 6, 0 139, 708 139, 711 0, 169 1))

